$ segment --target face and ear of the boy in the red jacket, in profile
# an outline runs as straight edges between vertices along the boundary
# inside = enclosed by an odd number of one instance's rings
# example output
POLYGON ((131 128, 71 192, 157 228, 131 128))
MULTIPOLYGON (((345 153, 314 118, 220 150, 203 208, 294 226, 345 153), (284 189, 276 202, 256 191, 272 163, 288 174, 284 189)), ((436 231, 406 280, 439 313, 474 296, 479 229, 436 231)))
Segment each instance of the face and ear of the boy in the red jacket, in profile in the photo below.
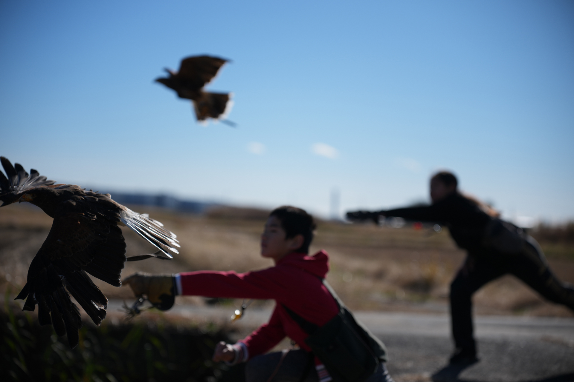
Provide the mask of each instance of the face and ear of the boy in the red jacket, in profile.
POLYGON ((286 254, 299 249, 303 244, 303 235, 295 235, 290 239, 286 239, 285 236, 281 220, 275 216, 269 216, 261 234, 261 256, 277 261, 286 254))

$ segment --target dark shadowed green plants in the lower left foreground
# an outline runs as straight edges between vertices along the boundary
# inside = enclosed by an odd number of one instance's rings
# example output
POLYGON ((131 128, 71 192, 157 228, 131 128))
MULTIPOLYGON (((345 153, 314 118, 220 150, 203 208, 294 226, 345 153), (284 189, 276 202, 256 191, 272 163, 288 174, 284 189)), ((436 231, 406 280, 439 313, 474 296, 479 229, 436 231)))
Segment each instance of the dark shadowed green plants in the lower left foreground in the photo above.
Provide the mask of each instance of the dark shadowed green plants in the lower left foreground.
MULTIPOLYGON (((96 327, 84 323, 70 349, 52 326, 40 326, 10 304, 0 310, 0 368, 13 381, 216 381, 227 372, 211 362, 222 330, 202 332, 154 321, 96 327)), ((6 380, 6 379, 3 379, 6 380)))

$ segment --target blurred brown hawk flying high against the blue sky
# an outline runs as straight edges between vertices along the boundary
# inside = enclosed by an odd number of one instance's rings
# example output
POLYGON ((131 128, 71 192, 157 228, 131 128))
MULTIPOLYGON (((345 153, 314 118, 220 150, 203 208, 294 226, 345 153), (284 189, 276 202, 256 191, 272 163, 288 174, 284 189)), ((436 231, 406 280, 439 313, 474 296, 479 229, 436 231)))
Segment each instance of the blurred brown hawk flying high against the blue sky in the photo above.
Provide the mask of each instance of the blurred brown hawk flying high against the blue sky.
POLYGON ((176 91, 180 98, 192 101, 198 121, 208 118, 219 119, 232 124, 225 117, 231 109, 231 93, 204 92, 203 87, 210 82, 228 60, 211 56, 192 56, 181 60, 179 72, 165 69, 169 77, 156 81, 176 91))

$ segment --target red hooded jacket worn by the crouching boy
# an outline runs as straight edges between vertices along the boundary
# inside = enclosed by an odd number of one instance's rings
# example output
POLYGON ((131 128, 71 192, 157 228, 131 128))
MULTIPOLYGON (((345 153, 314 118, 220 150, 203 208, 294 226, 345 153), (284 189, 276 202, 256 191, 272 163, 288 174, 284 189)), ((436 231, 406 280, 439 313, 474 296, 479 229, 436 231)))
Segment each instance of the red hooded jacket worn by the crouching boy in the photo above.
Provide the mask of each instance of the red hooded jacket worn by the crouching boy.
POLYGON ((311 351, 305 344, 307 333, 293 321, 281 304, 319 326, 335 317, 338 313, 337 304, 321 281, 329 270, 328 260, 325 251, 319 251, 313 256, 290 253, 277 261, 276 266, 253 272, 184 272, 180 273, 181 294, 272 298, 277 304, 269 322, 240 341, 247 346, 249 357, 269 351, 285 336, 296 341, 301 348, 311 351))

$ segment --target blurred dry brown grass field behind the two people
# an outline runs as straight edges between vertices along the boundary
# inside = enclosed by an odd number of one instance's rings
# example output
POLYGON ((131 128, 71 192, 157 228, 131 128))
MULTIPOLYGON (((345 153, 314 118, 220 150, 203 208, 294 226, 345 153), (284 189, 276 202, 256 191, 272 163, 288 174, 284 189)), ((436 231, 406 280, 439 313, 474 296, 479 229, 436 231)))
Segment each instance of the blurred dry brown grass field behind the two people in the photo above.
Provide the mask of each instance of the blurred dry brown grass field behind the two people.
MULTIPOLYGON (((272 265, 259 257, 265 211, 220 208, 196 216, 147 206, 131 208, 149 212, 176 233, 181 253, 173 261, 152 258, 128 262, 124 275, 135 271, 247 271, 272 265)), ((0 290, 8 286, 20 290, 24 285, 28 265, 51 224, 49 216, 27 203, 0 209, 0 290)), ((127 255, 154 251, 129 229, 123 230, 127 255)), ((541 238, 553 270, 564 281, 574 282, 574 243, 552 239, 542 231, 541 238)), ((464 259, 464 251, 456 248, 447 230, 436 233, 431 227, 394 229, 321 221, 312 251, 319 249, 331 256, 328 281, 347 305, 360 310, 447 312, 449 282, 464 259)), ((108 298, 133 298, 127 288, 95 282, 108 298)), ((474 300, 478 314, 573 316, 568 309, 545 302, 511 276, 491 282, 474 300)), ((199 297, 179 298, 178 302, 205 304, 199 297)))

